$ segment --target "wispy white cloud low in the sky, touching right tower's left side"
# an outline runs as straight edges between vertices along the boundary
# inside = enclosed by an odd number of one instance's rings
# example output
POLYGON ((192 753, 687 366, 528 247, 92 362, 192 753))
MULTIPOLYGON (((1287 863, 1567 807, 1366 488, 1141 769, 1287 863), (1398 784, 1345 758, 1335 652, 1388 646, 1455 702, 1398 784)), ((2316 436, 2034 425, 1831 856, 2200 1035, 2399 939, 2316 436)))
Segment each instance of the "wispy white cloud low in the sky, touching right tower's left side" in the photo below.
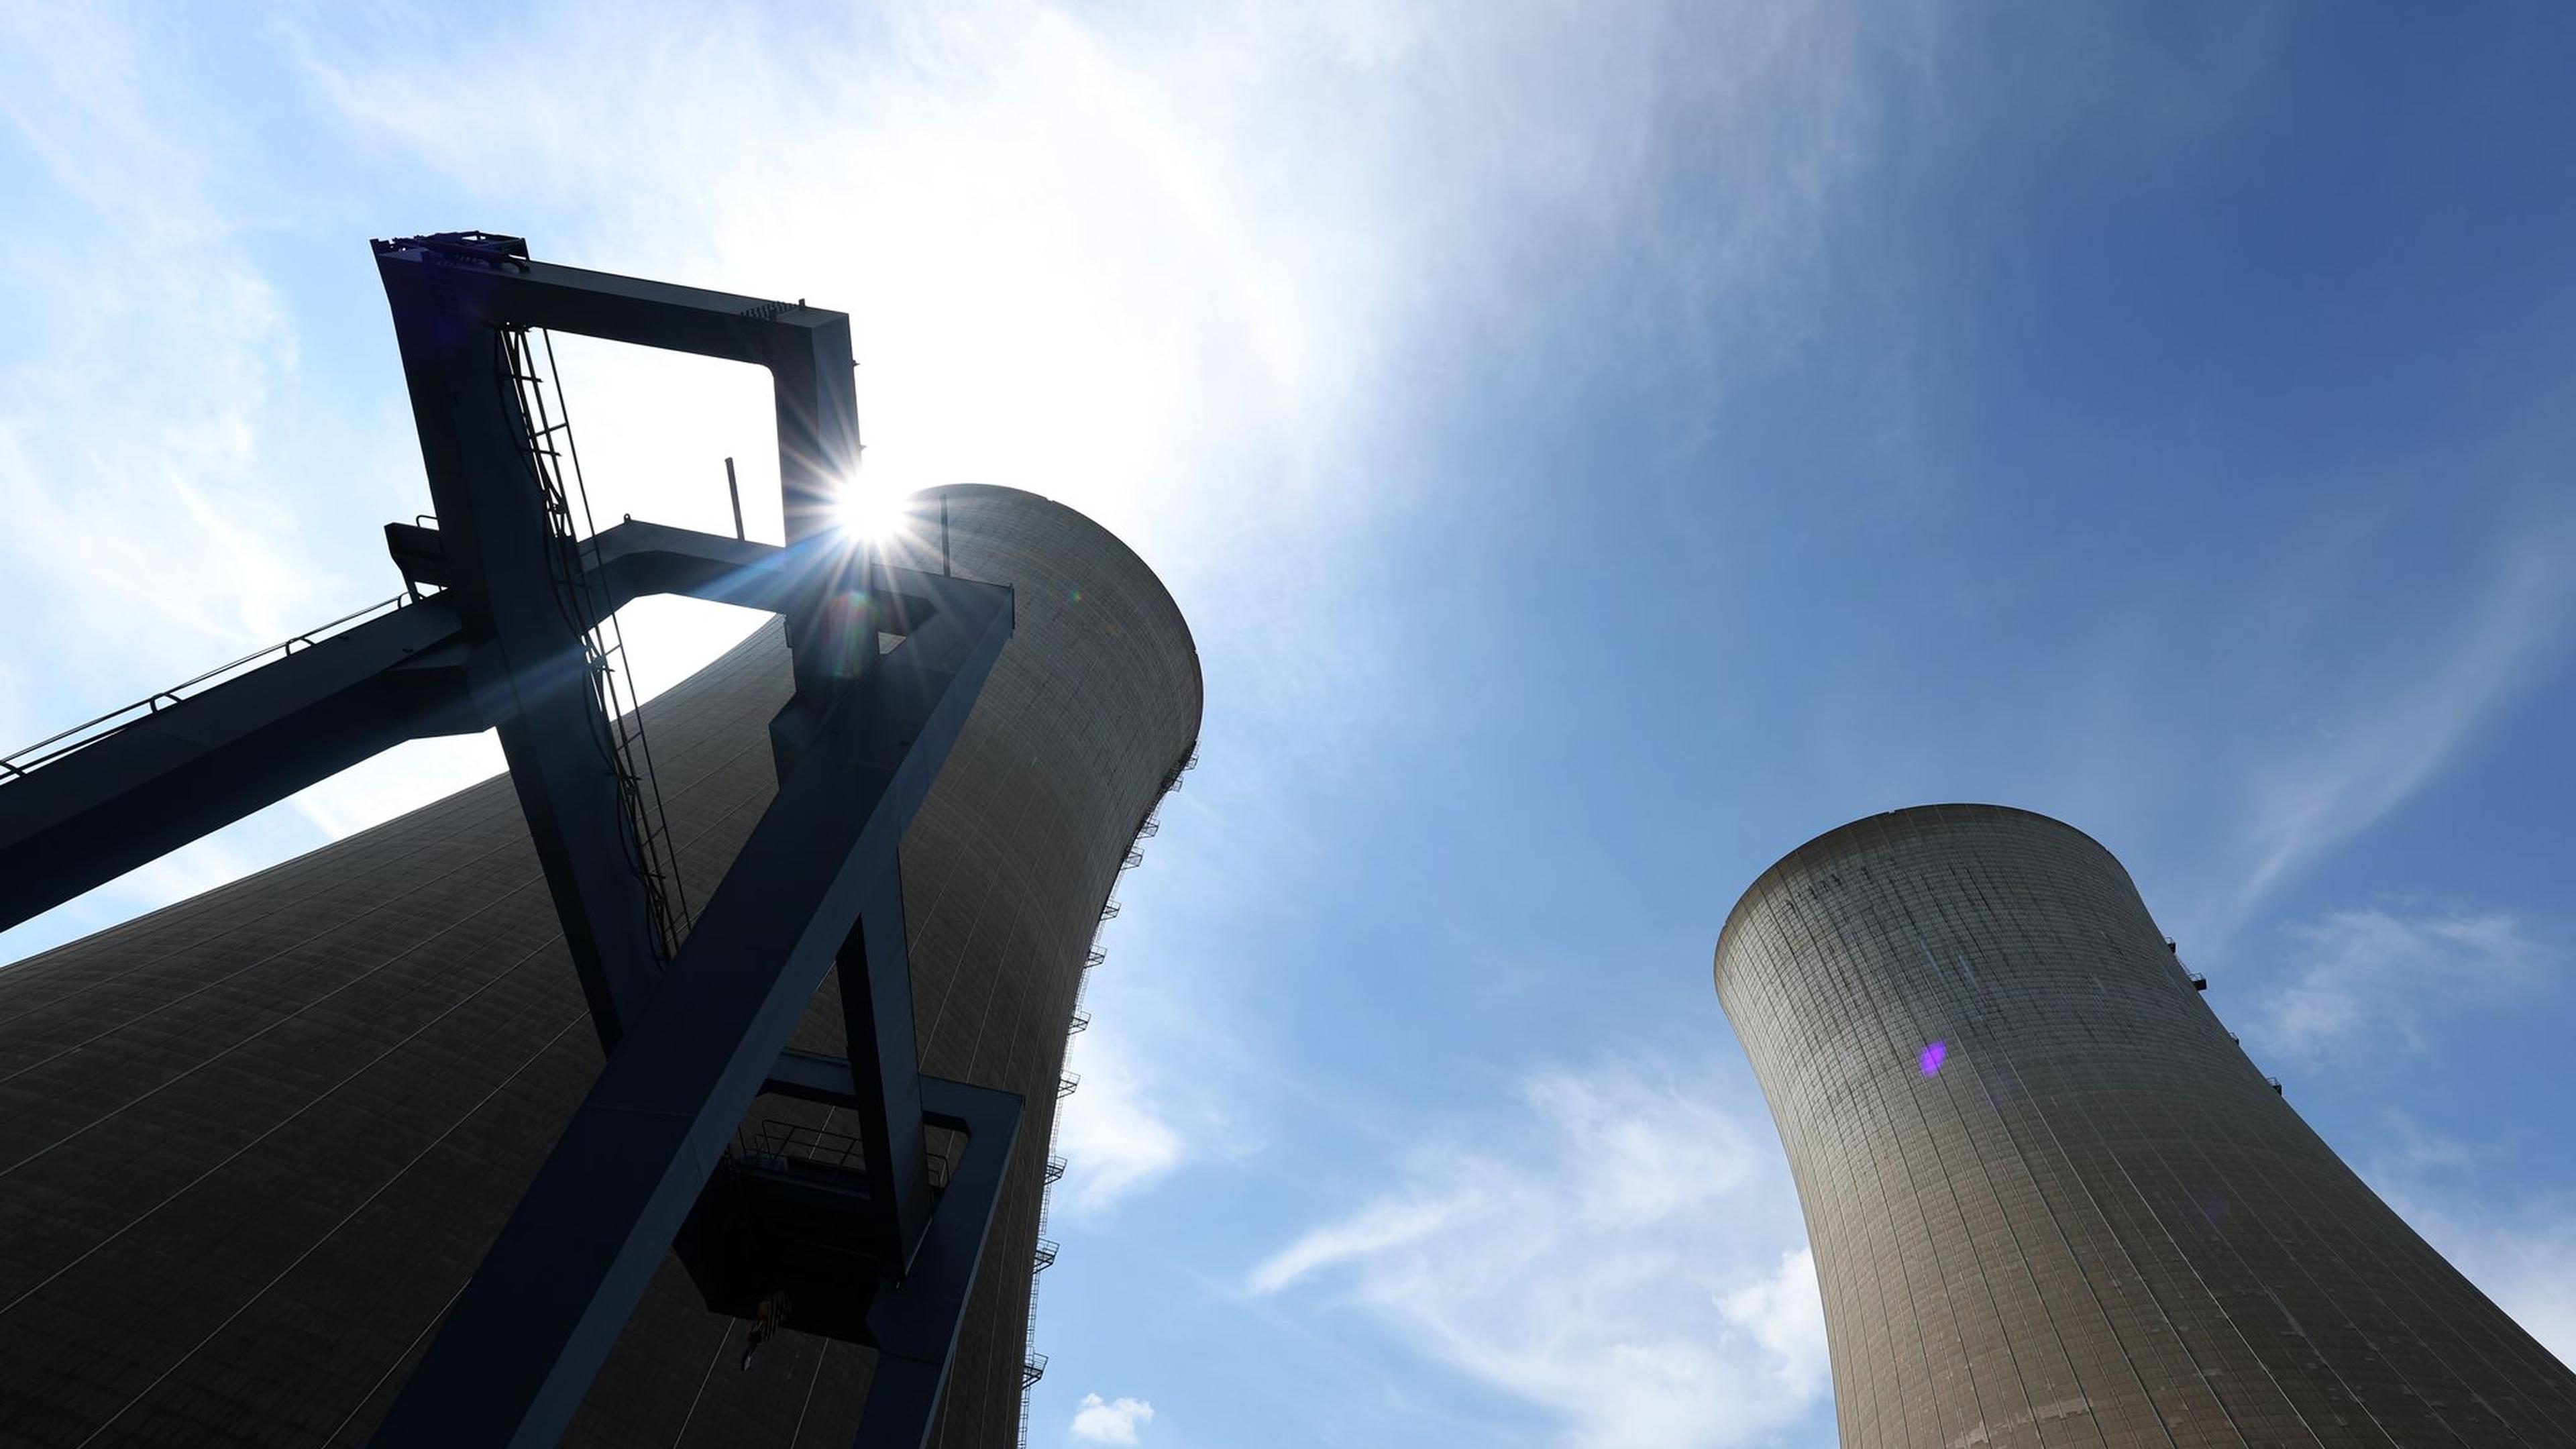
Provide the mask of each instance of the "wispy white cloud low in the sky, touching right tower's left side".
POLYGON ((1646 1065, 1538 1073, 1247 1289, 1332 1284, 1584 1449, 1759 1441, 1824 1392, 1821 1305, 1767 1129, 1710 1096, 1646 1065))

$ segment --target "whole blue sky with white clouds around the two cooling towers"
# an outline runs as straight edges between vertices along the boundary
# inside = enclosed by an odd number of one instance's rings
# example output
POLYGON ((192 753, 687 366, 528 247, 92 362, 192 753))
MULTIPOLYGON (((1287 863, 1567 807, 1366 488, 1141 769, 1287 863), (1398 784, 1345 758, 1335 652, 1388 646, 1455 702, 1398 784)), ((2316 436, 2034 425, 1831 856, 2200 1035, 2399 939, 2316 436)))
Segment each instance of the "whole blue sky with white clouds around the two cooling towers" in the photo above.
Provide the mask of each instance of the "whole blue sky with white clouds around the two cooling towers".
MULTIPOLYGON (((1206 657, 1077 1042, 1036 1444, 1829 1444, 1708 954, 1929 799, 2120 853, 2576 1356, 2576 21, 796 13, 15 8, 0 735, 394 590, 366 237, 811 297, 873 487, 1095 513, 1206 657)), ((724 454, 775 498, 757 376, 564 369, 600 511, 721 526, 724 454)), ((744 627, 626 637, 657 688, 744 627)), ((495 763, 389 755, 0 959, 495 763)))

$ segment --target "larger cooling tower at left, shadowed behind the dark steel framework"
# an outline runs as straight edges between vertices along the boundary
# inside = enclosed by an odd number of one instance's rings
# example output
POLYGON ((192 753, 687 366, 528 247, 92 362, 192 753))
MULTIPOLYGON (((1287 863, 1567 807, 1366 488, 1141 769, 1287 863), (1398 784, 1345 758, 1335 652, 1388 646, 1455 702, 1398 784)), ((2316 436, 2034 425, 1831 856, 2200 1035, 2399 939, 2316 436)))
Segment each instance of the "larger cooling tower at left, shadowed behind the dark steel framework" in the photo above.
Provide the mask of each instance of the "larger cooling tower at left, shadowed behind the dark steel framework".
MULTIPOLYGON (((933 1434, 1005 1449, 1066 1026, 1200 678, 1079 513, 951 487, 917 516, 894 562, 1018 598, 902 848, 922 1073, 1028 1101, 933 1434)), ((683 879, 775 794, 788 694, 773 621, 644 709, 683 879)), ((799 1044, 840 1029, 827 985, 799 1044)), ((507 779, 0 969, 0 1444, 363 1444, 598 1070, 507 779)), ((850 1444, 871 1351, 742 1348, 665 1261, 567 1444, 850 1444)))

